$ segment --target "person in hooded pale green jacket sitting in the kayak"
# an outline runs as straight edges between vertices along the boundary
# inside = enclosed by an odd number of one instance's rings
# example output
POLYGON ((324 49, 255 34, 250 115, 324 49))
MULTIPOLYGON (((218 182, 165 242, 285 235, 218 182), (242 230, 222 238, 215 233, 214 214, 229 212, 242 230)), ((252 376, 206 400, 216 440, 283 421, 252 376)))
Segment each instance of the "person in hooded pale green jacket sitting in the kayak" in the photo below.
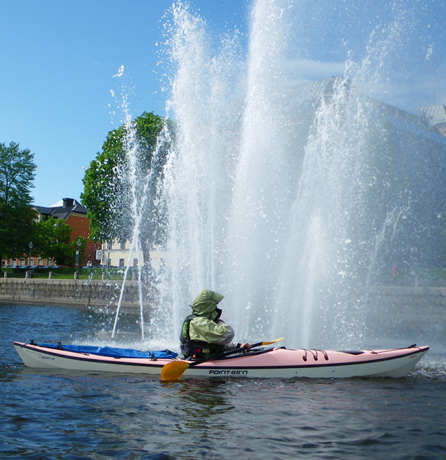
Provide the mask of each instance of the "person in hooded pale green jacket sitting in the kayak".
POLYGON ((222 294, 202 290, 192 303, 192 315, 185 318, 181 328, 181 352, 185 358, 210 358, 236 348, 251 349, 249 343, 231 342, 234 331, 221 319, 222 310, 217 308, 224 299, 222 294))

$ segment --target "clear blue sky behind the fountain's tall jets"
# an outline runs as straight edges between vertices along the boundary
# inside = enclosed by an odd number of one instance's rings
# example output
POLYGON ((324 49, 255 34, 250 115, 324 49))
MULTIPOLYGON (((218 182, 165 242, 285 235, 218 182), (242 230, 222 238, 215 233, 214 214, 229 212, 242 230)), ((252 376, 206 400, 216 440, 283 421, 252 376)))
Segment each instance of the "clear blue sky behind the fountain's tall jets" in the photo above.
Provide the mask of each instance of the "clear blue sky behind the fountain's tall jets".
MULTIPOLYGON (((246 47, 251 0, 189 3, 214 36, 237 27, 246 47)), ((107 132, 121 125, 123 113, 111 90, 118 95, 127 86, 133 116, 165 114, 167 93, 161 90, 158 62, 171 4, 0 0, 0 142, 18 142, 34 153, 36 205, 63 197, 79 200, 84 168, 107 132), (121 65, 125 74, 116 78, 121 65)), ((380 98, 414 113, 423 105, 445 104, 446 2, 397 5, 404 26, 387 45, 397 50, 384 56, 388 75, 380 83, 380 98)), ((290 68, 307 79, 341 74, 348 57, 360 62, 367 54, 376 27, 372 40, 385 35, 397 14, 392 6, 382 0, 296 0, 290 68)))

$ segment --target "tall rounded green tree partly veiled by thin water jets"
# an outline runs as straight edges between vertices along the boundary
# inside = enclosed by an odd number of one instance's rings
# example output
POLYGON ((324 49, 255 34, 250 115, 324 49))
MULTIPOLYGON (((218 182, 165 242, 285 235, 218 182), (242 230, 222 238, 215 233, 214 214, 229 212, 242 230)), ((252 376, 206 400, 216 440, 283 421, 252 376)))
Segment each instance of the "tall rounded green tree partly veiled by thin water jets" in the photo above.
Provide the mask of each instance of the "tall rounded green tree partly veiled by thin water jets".
POLYGON ((93 241, 122 242, 130 239, 134 225, 132 180, 137 184, 133 190, 136 190, 142 209, 141 228, 144 229, 144 235, 141 235, 141 244, 145 254, 148 254, 148 244, 159 238, 162 219, 155 206, 155 195, 169 143, 164 142, 160 146, 157 141, 164 124, 164 118, 153 112, 144 112, 134 120, 136 145, 130 145, 128 129, 122 125, 109 132, 102 151, 91 161, 84 176, 81 200, 88 209, 90 239, 93 241), (133 177, 126 154, 132 148, 137 161, 133 177), (146 198, 143 200, 144 193, 146 198))

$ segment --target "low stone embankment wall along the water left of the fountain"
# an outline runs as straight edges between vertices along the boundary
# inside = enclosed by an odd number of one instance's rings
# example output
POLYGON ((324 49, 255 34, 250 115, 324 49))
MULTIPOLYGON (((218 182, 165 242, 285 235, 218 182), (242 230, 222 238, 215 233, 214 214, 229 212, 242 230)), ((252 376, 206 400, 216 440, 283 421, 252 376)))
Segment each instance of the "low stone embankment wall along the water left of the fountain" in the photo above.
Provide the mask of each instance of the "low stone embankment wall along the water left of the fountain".
MULTIPOLYGON (((122 282, 111 280, 54 280, 0 278, 0 301, 45 305, 75 305, 116 310, 122 282)), ((121 308, 137 312, 137 281, 127 281, 121 308)))

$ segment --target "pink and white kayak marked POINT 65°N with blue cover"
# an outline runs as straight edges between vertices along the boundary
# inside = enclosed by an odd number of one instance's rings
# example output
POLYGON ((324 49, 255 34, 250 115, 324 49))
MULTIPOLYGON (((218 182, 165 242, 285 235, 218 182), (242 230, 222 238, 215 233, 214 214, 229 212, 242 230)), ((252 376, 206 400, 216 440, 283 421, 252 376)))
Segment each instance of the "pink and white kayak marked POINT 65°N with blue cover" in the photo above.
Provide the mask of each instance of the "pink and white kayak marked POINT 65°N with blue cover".
MULTIPOLYGON (((41 369, 119 372, 160 376, 162 367, 178 360, 170 351, 137 351, 111 347, 14 342, 24 365, 41 369)), ((412 371, 429 347, 360 351, 316 349, 252 349, 246 354, 194 363, 190 377, 251 377, 315 379, 403 377, 412 371)))

